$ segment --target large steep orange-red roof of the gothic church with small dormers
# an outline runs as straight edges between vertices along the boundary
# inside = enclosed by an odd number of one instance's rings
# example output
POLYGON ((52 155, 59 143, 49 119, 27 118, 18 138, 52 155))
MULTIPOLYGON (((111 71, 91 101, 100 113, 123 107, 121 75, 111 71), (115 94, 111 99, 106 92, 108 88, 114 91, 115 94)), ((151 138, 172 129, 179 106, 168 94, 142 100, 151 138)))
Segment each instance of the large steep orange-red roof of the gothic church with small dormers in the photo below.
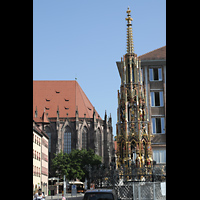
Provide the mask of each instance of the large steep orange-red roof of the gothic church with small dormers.
MULTIPOLYGON (((93 105, 77 81, 33 81, 33 118, 37 106, 37 118, 75 117, 76 108, 80 118, 93 118, 93 105)), ((98 119, 98 113, 96 118, 98 119)), ((99 119, 101 117, 99 116, 99 119)), ((35 119, 36 120, 36 119, 35 119)), ((46 121, 46 119, 45 119, 46 121)))

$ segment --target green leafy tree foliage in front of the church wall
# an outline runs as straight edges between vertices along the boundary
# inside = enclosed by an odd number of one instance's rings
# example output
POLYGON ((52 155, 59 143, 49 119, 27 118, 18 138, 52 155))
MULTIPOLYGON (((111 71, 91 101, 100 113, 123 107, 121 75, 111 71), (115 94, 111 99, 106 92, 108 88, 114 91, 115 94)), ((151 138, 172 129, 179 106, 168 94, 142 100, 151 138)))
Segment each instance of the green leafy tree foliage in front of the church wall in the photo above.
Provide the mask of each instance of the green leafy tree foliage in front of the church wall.
POLYGON ((74 149, 70 154, 58 153, 52 159, 52 168, 55 170, 56 176, 62 178, 64 175, 68 180, 80 179, 84 180, 88 177, 86 166, 99 166, 101 157, 96 155, 92 149, 77 150, 74 149))

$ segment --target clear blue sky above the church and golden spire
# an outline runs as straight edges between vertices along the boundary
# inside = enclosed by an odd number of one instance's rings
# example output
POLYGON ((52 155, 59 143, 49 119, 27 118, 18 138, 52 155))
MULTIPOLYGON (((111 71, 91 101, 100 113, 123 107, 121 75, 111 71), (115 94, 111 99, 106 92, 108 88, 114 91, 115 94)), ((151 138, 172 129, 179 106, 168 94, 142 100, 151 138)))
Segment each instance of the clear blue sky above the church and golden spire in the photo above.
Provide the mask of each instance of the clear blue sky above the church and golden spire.
POLYGON ((116 61, 126 54, 130 7, 134 51, 166 45, 166 0, 33 0, 33 80, 75 80, 116 135, 116 61))

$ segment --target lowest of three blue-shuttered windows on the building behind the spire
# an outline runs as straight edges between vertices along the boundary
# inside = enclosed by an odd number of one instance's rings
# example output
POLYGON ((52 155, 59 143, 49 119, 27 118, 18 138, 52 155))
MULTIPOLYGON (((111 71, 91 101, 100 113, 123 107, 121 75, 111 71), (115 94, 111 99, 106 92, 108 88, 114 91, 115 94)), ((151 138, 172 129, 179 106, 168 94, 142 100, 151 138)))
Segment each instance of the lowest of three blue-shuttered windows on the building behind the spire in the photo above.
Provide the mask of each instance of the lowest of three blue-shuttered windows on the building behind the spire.
POLYGON ((152 133, 164 134, 165 133, 165 118, 152 118, 152 133))

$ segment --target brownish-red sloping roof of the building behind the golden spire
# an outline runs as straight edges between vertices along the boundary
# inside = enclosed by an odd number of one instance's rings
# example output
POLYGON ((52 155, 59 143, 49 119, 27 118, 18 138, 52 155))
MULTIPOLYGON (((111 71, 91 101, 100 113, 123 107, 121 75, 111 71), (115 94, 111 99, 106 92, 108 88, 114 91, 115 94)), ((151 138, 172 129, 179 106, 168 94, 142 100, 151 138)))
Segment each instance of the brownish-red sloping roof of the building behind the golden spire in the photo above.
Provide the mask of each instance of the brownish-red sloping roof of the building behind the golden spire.
POLYGON ((166 46, 145 53, 138 58, 141 60, 166 60, 166 46))

